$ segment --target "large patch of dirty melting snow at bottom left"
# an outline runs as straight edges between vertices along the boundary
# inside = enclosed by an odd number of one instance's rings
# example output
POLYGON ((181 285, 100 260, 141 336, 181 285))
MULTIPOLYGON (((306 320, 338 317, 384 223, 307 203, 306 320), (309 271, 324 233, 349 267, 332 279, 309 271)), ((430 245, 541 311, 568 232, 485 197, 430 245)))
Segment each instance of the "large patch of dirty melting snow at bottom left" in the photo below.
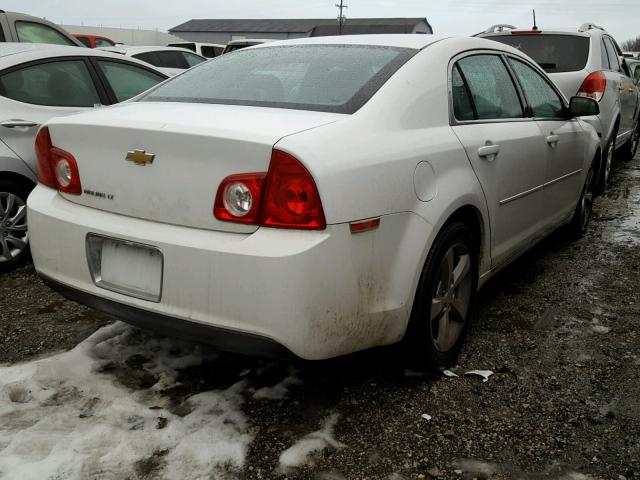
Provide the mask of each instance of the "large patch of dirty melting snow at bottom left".
POLYGON ((0 477, 212 478, 241 468, 253 439, 244 381, 193 395, 180 415, 167 410, 163 390, 179 370, 211 358, 115 323, 69 352, 0 367, 0 477))

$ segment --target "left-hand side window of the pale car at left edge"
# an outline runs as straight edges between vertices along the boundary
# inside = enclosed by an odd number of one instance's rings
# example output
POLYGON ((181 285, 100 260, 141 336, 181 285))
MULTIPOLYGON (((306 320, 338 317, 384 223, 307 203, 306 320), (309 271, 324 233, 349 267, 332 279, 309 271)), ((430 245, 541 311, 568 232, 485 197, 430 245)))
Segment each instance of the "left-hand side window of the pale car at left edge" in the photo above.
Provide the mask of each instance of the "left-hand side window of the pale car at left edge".
POLYGON ((100 97, 82 60, 39 63, 0 76, 0 95, 50 107, 93 107, 100 97))

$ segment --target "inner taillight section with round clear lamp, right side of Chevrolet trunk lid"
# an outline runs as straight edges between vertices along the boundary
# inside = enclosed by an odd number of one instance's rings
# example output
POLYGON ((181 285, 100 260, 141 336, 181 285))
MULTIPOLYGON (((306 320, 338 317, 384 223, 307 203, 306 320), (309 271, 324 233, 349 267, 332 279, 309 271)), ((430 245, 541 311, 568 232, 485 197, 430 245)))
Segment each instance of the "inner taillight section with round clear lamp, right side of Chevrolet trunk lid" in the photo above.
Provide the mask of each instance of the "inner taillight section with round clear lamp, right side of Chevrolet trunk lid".
POLYGON ((225 178, 216 195, 215 217, 227 222, 258 225, 266 176, 266 173, 247 173, 225 178))

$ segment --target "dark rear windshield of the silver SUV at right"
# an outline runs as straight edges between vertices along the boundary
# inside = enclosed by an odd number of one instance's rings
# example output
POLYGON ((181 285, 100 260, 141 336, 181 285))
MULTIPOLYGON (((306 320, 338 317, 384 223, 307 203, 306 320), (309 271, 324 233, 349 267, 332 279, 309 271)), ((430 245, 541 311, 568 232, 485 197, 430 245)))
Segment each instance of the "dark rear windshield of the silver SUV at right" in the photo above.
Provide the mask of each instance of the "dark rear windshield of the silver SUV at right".
POLYGON ((589 38, 576 35, 491 35, 533 58, 547 73, 577 72, 587 66, 589 38))

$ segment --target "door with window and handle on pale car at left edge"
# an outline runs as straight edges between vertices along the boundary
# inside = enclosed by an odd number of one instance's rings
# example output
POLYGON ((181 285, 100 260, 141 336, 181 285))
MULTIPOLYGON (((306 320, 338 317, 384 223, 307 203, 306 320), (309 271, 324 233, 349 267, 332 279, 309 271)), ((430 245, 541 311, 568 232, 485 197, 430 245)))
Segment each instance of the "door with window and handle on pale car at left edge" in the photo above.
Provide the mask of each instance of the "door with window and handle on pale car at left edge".
POLYGON ((31 168, 38 127, 101 103, 86 62, 47 59, 0 73, 0 140, 31 168))

